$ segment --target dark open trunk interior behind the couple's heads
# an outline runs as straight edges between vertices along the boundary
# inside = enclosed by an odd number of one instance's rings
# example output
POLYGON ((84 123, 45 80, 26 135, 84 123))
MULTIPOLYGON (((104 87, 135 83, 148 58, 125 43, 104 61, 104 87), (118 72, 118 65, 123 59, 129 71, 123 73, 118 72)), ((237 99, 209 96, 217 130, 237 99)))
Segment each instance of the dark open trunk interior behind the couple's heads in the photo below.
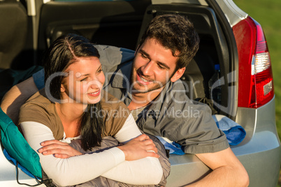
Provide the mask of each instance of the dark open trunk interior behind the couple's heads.
POLYGON ((43 50, 65 33, 78 33, 97 44, 136 50, 145 27, 153 17, 180 13, 194 23, 201 39, 199 52, 182 76, 189 98, 212 105, 208 82, 215 73, 215 64, 219 64, 221 101, 216 101, 213 107, 219 114, 235 119, 238 85, 234 82, 238 77, 238 53, 229 22, 217 3, 210 3, 212 7, 187 3, 150 3, 145 0, 84 3, 50 1, 43 4, 41 15, 37 17, 40 24, 34 24, 38 28, 38 57, 35 63, 41 65, 43 50))

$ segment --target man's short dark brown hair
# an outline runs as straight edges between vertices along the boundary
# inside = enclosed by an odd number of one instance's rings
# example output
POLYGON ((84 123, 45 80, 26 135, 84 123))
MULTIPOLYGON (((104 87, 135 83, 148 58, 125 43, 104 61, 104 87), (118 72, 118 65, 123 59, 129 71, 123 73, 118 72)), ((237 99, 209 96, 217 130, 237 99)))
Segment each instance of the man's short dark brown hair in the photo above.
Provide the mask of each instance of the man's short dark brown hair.
POLYGON ((158 15, 147 25, 141 38, 143 45, 147 38, 156 39, 178 57, 175 70, 184 68, 193 59, 199 49, 199 36, 194 25, 183 15, 158 15))

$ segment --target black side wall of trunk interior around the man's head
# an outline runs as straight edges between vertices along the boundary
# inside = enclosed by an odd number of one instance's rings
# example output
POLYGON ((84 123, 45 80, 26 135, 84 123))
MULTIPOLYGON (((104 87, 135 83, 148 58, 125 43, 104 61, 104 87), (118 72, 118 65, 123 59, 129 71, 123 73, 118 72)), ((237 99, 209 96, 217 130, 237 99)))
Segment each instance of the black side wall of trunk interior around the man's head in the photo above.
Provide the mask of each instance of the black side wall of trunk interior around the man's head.
MULTIPOLYGON (((220 9, 217 8, 217 11, 220 9)), ((220 10, 221 11, 221 10, 220 10)), ((199 52, 186 68, 181 80, 186 82, 187 95, 193 100, 200 100, 214 107, 213 112, 224 114, 235 119, 237 110, 237 85, 236 64, 238 53, 236 42, 224 16, 217 16, 214 8, 193 4, 157 4, 145 10, 142 29, 143 33, 147 24, 156 15, 180 13, 194 23, 200 37, 199 52), (215 73, 215 65, 220 67, 221 100, 214 100, 210 94, 209 80, 215 73), (206 99, 204 99, 206 98, 206 99)), ((140 40, 141 38, 138 38, 140 40)))

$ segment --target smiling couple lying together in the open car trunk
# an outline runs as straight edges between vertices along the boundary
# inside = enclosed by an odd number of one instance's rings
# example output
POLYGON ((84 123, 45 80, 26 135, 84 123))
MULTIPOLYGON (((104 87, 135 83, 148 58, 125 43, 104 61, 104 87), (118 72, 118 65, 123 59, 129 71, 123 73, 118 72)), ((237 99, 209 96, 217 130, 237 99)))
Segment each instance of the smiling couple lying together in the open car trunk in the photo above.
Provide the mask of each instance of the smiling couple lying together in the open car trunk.
POLYGON ((168 158, 148 135, 177 142, 212 169, 189 185, 247 186, 247 172, 208 105, 182 93, 179 79, 198 48, 193 24, 180 15, 155 17, 135 54, 92 45, 74 34, 62 36, 45 53, 45 79, 41 71, 13 87, 1 107, 6 112, 9 100, 20 94, 13 89, 29 85, 32 93, 22 95, 23 102, 36 90, 30 82, 40 89, 22 105, 18 122, 58 186, 165 186, 168 158), (171 110, 194 112, 183 117, 171 110))

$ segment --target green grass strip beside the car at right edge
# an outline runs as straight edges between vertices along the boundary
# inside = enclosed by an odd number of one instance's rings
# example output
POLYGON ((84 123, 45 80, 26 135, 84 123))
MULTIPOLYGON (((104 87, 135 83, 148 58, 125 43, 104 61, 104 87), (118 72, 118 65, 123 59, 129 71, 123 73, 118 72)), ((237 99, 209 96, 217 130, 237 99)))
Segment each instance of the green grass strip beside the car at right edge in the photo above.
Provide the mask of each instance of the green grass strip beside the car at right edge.
MULTIPOLYGON (((276 126, 281 137, 281 1, 233 0, 236 5, 254 18, 264 29, 271 54, 275 89, 276 126)), ((281 187, 281 170, 278 186, 281 187)))

